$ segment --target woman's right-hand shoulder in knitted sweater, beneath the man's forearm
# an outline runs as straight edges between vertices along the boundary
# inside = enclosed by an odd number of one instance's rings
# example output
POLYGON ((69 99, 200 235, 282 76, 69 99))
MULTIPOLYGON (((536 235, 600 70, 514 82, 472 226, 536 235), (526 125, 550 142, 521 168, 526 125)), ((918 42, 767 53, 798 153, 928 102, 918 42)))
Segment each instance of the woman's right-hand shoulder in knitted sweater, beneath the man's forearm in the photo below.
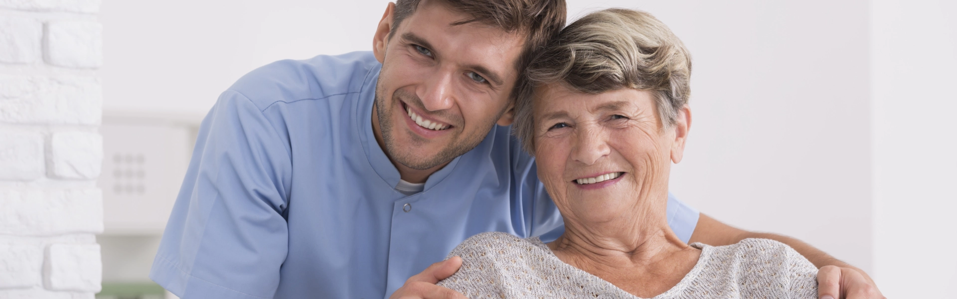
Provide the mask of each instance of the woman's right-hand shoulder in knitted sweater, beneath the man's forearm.
POLYGON ((746 297, 817 298, 817 267, 788 244, 745 239, 725 246, 693 245, 708 263, 701 274, 733 280, 728 283, 737 284, 746 297))

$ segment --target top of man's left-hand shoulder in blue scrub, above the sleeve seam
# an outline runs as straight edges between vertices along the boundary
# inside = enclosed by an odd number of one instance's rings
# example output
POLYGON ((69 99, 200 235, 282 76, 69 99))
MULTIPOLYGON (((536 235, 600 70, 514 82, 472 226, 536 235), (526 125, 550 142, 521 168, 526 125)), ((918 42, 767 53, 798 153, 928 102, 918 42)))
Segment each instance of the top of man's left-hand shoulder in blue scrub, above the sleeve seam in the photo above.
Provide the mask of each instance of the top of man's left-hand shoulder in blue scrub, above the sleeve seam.
POLYGON ((229 91, 246 97, 260 109, 301 100, 322 100, 356 94, 378 74, 379 61, 370 52, 321 55, 302 60, 285 59, 266 64, 244 75, 229 91))

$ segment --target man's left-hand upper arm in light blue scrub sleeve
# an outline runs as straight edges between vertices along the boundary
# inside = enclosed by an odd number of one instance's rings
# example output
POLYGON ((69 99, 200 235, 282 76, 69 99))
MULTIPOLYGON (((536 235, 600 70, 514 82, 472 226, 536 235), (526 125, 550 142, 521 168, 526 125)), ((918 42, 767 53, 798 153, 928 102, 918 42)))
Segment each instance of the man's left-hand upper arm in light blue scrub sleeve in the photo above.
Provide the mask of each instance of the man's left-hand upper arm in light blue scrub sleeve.
POLYGON ((183 299, 272 298, 288 253, 288 142, 226 91, 200 127, 149 277, 183 299))

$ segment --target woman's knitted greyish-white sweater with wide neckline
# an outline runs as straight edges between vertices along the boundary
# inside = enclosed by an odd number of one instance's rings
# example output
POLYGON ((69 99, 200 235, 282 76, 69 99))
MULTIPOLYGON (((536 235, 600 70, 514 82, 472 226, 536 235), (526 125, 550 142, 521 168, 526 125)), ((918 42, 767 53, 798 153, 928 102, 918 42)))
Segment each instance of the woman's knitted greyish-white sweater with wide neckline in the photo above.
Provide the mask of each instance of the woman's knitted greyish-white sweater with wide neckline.
MULTIPOLYGON (((817 268, 790 246, 746 239, 727 246, 693 243, 698 264, 665 298, 817 298, 817 268)), ((456 274, 438 283, 471 299, 638 298, 558 259, 538 238, 482 233, 459 244, 456 274)))

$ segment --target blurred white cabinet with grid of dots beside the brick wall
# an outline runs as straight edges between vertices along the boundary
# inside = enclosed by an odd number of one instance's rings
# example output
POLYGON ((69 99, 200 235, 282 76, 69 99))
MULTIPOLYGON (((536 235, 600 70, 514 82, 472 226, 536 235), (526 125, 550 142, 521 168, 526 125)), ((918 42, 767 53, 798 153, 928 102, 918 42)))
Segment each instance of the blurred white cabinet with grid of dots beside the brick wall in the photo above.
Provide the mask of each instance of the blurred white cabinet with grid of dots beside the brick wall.
POLYGON ((179 192, 202 116, 107 112, 103 135, 105 235, 160 235, 179 192))

